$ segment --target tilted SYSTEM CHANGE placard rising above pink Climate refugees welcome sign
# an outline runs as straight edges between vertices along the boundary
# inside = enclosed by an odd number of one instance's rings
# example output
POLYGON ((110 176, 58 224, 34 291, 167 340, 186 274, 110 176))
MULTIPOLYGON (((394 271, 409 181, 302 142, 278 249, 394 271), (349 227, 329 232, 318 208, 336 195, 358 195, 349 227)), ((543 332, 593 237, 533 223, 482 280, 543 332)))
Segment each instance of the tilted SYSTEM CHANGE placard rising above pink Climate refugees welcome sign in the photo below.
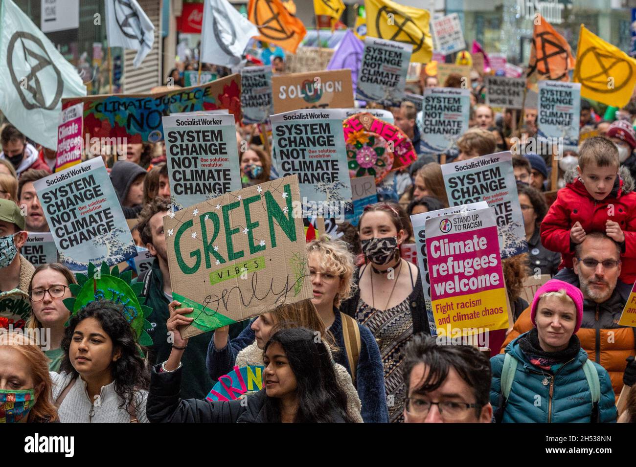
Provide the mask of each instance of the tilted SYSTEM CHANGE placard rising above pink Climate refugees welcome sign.
POLYGON ((528 251, 510 151, 446 163, 441 173, 449 205, 487 201, 499 229, 502 258, 528 251))

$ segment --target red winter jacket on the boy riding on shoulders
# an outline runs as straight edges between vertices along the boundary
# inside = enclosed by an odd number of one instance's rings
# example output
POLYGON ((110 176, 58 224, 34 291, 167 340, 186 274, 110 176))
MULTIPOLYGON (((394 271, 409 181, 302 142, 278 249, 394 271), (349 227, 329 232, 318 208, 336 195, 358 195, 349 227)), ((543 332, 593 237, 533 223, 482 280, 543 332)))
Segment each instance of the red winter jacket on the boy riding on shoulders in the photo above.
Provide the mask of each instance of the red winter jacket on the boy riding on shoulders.
POLYGON ((612 193, 602 201, 596 201, 583 186, 576 170, 565 174, 567 185, 560 189, 556 201, 541 222, 541 243, 544 247, 562 255, 559 269, 572 267, 574 248, 570 250, 570 229, 576 222, 586 233, 605 233, 605 222, 618 222, 625 233, 625 250, 621 259, 620 279, 628 284, 636 281, 636 193, 629 170, 621 167, 612 193), (613 210, 611 206, 613 205, 613 210))

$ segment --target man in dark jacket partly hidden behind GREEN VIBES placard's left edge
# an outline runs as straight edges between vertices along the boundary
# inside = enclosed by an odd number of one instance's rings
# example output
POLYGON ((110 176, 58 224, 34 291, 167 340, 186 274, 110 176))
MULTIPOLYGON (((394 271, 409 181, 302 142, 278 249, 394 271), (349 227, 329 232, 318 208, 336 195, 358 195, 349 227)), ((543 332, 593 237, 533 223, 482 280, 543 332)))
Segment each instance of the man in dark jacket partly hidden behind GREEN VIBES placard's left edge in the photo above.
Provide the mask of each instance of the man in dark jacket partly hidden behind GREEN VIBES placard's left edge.
MULTIPOLYGON (((163 233, 163 217, 170 212, 170 200, 157 197, 146 204, 139 214, 137 229, 143 245, 155 257, 151 269, 144 271, 137 282, 142 282, 142 296, 146 297, 145 305, 153 309, 148 321, 152 327, 146 329, 153 339, 149 361, 165 362, 172 351, 172 338, 168 335, 166 321, 170 313, 168 304, 172 302, 172 284, 166 253, 166 241, 163 233)), ((244 328, 243 323, 230 326, 230 335, 236 337, 244 328)), ((184 351, 184 359, 188 365, 183 367, 181 397, 184 399, 202 399, 208 395, 216 381, 212 381, 205 368, 205 356, 210 343, 210 334, 199 334, 190 337, 184 351)))

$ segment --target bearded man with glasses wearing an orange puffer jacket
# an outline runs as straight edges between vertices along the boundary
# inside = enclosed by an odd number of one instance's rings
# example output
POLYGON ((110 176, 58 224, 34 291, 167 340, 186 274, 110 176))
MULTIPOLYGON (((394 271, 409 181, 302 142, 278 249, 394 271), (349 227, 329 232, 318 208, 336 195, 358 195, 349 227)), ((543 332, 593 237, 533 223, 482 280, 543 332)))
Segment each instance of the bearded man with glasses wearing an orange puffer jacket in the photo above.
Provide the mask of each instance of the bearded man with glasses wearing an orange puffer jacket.
MULTIPOLYGON (((555 279, 576 285, 583 292, 583 320, 576 335, 590 360, 609 373, 616 396, 623 388, 626 358, 635 354, 636 328, 618 324, 632 290, 618 280, 621 247, 604 233, 592 232, 576 245, 572 269, 561 269, 555 279)), ((530 307, 515 322, 501 347, 532 329, 530 307)))

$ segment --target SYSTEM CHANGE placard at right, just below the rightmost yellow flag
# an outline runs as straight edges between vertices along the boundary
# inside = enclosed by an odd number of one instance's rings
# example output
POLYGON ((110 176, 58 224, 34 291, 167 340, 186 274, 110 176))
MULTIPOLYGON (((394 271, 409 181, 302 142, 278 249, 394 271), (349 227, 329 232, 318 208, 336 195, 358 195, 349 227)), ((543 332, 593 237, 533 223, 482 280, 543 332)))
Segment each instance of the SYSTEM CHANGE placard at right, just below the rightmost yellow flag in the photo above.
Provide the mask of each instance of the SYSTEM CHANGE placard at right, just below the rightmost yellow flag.
POLYGON ((581 83, 539 81, 537 138, 563 141, 563 151, 578 151, 581 83))

